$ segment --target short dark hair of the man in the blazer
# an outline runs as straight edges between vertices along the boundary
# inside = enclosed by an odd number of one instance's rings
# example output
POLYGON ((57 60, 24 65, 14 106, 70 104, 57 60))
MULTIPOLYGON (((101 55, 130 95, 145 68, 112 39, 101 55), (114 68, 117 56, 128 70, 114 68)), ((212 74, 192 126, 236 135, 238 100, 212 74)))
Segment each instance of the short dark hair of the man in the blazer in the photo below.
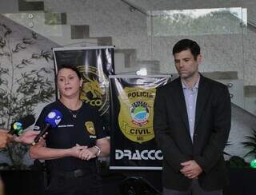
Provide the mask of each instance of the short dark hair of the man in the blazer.
POLYGON ((177 54, 183 50, 190 50, 191 54, 193 54, 194 59, 198 58, 200 54, 200 46, 198 46, 197 42, 194 42, 190 39, 182 39, 178 41, 173 48, 173 55, 177 54))

